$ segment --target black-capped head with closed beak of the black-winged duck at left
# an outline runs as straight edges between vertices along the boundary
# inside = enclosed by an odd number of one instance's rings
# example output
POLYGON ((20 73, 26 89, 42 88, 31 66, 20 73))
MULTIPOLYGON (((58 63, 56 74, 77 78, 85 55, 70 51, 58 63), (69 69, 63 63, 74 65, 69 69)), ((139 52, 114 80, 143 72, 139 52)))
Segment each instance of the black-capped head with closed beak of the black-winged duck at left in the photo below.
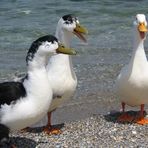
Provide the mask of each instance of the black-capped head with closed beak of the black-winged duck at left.
POLYGON ((46 35, 38 38, 34 41, 28 51, 26 60, 32 61, 37 55, 38 57, 54 55, 58 53, 75 55, 76 51, 72 48, 66 48, 64 45, 59 43, 56 37, 52 35, 46 35))

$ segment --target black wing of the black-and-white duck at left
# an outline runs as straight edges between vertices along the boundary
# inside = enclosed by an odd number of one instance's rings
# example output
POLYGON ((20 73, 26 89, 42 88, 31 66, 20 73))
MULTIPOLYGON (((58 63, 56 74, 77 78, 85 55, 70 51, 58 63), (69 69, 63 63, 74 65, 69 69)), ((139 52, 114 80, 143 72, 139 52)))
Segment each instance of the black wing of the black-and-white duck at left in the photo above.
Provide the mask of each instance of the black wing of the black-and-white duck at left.
POLYGON ((21 82, 0 83, 0 105, 11 104, 26 96, 26 90, 21 82))

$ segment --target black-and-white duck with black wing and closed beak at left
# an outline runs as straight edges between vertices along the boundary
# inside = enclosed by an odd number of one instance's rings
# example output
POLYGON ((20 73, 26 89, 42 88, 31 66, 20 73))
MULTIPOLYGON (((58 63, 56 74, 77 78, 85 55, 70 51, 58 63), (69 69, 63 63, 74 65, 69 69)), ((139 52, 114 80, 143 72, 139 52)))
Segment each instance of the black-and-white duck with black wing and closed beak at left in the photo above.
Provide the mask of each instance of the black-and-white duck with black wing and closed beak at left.
POLYGON ((22 82, 0 83, 0 144, 9 141, 9 132, 41 120, 48 112, 53 92, 46 71, 50 55, 76 54, 52 35, 35 40, 27 53, 27 75, 22 82))

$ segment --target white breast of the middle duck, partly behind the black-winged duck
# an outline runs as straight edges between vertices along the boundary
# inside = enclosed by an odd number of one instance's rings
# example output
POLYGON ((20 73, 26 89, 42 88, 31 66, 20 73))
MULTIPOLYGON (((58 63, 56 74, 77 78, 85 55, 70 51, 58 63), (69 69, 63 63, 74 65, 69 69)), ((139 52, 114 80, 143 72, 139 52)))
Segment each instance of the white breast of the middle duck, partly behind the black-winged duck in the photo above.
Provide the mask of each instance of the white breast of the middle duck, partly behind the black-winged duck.
POLYGON ((76 89, 77 78, 70 60, 67 55, 56 55, 52 58, 49 69, 47 69, 48 80, 53 90, 53 96, 55 96, 49 111, 57 108, 65 100, 70 99, 76 89))

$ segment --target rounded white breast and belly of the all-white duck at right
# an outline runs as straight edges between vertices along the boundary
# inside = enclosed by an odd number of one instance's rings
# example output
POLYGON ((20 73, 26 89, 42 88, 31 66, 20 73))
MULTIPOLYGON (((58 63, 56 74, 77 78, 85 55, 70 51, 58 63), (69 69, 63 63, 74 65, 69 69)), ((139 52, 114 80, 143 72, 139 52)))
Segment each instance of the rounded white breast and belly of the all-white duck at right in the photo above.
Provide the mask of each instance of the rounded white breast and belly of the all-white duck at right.
POLYGON ((148 103, 148 64, 144 67, 128 65, 121 71, 116 81, 117 93, 121 101, 131 106, 148 103))

